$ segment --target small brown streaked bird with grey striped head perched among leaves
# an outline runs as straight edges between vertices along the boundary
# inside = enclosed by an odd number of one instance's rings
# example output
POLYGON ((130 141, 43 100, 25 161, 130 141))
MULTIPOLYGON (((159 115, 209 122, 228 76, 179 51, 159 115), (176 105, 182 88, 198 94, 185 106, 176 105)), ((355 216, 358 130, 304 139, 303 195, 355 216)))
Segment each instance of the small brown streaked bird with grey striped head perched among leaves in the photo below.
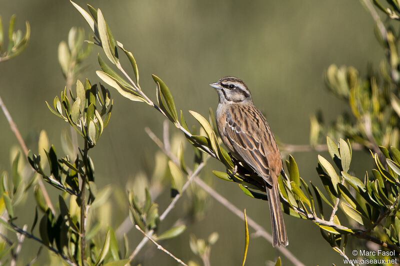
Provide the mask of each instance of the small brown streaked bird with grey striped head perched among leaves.
POLYGON ((269 124, 240 78, 225 76, 209 85, 218 93, 215 121, 221 140, 235 159, 245 162, 262 177, 271 214, 272 246, 286 246, 277 181, 282 159, 269 124))

